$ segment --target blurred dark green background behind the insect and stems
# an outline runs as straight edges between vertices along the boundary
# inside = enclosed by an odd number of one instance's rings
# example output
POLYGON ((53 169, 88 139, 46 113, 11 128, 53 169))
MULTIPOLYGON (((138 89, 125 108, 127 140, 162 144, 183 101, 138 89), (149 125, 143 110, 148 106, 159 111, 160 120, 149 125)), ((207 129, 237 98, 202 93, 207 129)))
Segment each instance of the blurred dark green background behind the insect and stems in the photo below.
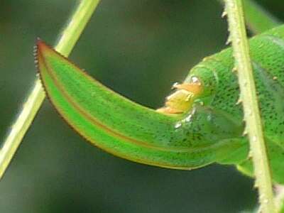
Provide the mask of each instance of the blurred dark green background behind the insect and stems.
MULTIPOLYGON (((283 0, 259 1, 284 20, 283 0)), ((54 44, 78 1, 0 1, 0 138, 33 87, 33 45, 54 44)), ((160 107, 204 56, 225 47, 222 6, 212 0, 102 0, 70 55, 116 92, 160 107)), ((241 212, 253 180, 234 167, 193 171, 132 163, 77 136, 45 101, 0 182, 1 213, 241 212)))

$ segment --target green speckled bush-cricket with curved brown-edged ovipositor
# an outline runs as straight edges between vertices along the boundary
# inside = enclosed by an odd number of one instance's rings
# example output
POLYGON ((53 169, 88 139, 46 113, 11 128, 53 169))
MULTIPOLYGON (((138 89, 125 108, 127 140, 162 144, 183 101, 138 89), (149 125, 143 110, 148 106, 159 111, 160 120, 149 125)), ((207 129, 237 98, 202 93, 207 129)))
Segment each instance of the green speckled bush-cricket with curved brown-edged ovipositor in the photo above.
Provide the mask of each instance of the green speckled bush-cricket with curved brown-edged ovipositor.
MULTIPOLYGON (((273 180, 284 183, 284 26, 251 38, 250 46, 273 180)), ((158 110, 104 87, 41 40, 35 60, 55 109, 104 151, 183 170, 234 164, 252 175, 231 52, 204 58, 158 110)))

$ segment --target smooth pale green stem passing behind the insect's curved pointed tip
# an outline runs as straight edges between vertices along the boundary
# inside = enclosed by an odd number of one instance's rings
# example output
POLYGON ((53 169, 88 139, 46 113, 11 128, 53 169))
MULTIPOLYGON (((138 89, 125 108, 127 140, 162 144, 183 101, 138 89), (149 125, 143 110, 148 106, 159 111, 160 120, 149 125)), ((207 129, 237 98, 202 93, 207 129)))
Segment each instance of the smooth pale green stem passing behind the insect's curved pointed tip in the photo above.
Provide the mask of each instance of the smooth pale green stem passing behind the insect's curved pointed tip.
MULTIPOLYGON (((55 45, 55 50, 65 56, 70 54, 98 4, 99 0, 82 0, 80 2, 66 28, 62 31, 62 35, 55 45)), ((31 94, 28 95, 28 99, 26 103, 23 104, 21 113, 11 127, 11 131, 1 148, 0 179, 3 177, 6 168, 8 168, 13 155, 16 153, 26 131, 28 131, 28 128, 31 126, 44 99, 45 93, 43 87, 41 86, 40 80, 36 79, 31 94)))

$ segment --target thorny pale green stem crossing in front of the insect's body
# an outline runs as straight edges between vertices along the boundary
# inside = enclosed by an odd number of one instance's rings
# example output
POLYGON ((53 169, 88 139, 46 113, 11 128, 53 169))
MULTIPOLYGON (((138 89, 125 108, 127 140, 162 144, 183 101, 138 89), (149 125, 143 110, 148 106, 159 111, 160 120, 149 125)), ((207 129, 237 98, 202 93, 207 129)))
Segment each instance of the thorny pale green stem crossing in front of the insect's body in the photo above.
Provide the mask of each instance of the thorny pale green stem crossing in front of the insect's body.
POLYGON ((244 107, 246 130, 253 157, 254 175, 258 187, 260 209, 263 213, 274 213, 271 172, 268 164, 266 144, 263 137, 261 116, 258 108, 256 86, 253 80, 253 69, 249 56, 249 42, 246 38, 244 11, 241 0, 225 0, 225 11, 228 14, 229 41, 231 41, 235 66, 239 75, 241 101, 244 107))

